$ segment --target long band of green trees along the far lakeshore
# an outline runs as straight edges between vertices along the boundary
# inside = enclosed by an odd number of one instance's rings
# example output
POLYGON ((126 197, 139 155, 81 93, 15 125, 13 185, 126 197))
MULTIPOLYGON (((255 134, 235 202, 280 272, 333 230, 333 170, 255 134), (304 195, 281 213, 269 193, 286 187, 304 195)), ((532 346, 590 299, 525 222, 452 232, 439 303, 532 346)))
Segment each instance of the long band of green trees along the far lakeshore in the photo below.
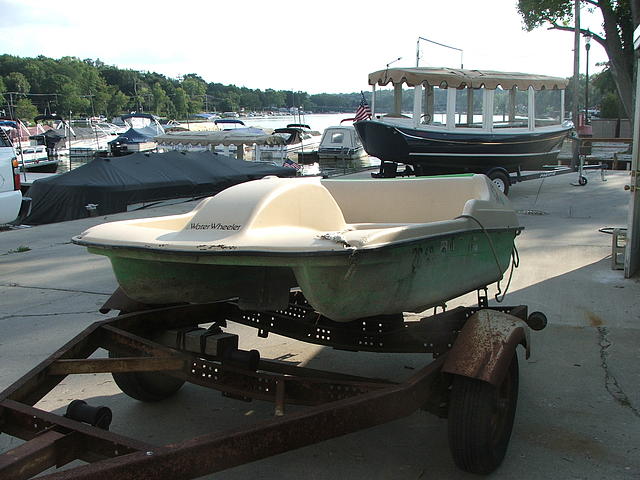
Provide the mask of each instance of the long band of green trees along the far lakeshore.
MULTIPOLYGON (((105 65, 99 59, 0 55, 0 110, 16 111, 18 99, 29 99, 40 113, 68 117, 144 111, 170 118, 186 118, 202 111, 267 111, 302 107, 311 111, 355 112, 360 94, 319 94, 266 90, 207 83, 195 73, 168 78, 105 65)), ((32 120, 31 110, 21 110, 32 120)))

